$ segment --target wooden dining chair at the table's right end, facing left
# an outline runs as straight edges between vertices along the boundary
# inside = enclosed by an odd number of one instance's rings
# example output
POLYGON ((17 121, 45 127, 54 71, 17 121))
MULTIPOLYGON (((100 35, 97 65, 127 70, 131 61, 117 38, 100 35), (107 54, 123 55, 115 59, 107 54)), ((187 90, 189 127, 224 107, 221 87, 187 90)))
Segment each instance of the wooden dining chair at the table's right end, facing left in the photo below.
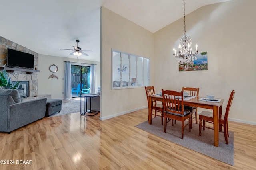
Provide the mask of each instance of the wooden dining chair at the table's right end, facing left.
MULTIPOLYGON (((221 129, 219 129, 219 131, 224 132, 224 137, 225 137, 226 144, 228 144, 228 136, 229 136, 228 135, 228 113, 229 113, 231 104, 233 102, 234 95, 235 95, 235 90, 232 90, 232 92, 230 94, 230 97, 229 97, 229 100, 228 100, 228 105, 227 105, 227 108, 226 108, 225 115, 220 115, 220 117, 219 117, 219 124, 224 127, 224 131, 222 131, 221 129)), ((203 130, 204 130, 205 127, 206 127, 205 122, 213 123, 213 114, 212 114, 212 112, 202 111, 199 114, 199 136, 201 136, 201 131, 202 131, 202 120, 203 120, 203 130)), ((206 127, 206 128, 213 129, 212 127, 206 127)))

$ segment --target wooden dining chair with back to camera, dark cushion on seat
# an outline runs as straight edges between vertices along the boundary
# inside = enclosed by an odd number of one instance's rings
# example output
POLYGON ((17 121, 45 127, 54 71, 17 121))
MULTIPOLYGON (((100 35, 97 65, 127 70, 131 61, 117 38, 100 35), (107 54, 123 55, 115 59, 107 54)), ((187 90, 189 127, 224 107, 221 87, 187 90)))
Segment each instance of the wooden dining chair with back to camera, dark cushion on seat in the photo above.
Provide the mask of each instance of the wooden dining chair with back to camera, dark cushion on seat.
POLYGON ((184 109, 183 92, 162 89, 162 94, 164 105, 164 132, 166 132, 166 124, 168 123, 167 118, 169 118, 169 120, 172 120, 172 126, 173 120, 181 121, 181 139, 183 139, 184 128, 188 126, 188 131, 190 132, 190 122, 192 121, 190 110, 184 109), (188 119, 188 123, 184 125, 184 121, 186 119, 188 119))

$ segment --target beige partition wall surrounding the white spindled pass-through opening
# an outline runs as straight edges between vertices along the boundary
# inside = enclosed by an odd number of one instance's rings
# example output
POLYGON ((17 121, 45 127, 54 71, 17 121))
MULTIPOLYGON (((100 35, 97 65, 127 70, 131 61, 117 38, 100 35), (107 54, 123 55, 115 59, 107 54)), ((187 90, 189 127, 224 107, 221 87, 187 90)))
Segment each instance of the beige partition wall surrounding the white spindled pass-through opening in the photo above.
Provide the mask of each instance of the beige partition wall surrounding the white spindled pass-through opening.
MULTIPOLYGON (((151 59, 153 33, 102 7, 101 9, 102 95, 100 119, 109 119, 147 106, 144 87, 111 90, 111 48, 151 59)), ((153 81, 153 76, 151 75, 153 81)))

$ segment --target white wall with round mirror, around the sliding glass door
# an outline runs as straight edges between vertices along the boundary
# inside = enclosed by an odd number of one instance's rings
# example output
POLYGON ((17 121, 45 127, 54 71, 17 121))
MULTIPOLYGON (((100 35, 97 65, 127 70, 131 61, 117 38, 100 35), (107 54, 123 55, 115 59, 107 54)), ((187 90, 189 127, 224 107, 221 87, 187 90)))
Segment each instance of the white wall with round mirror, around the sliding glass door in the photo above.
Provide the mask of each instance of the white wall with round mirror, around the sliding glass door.
POLYGON ((38 73, 38 94, 52 94, 52 98, 64 99, 64 69, 65 62, 71 61, 77 63, 88 63, 88 64, 97 64, 95 66, 95 80, 96 87, 100 87, 100 62, 96 61, 87 61, 80 59, 71 59, 66 57, 57 57, 50 55, 40 55, 39 54, 39 70, 38 73), (58 66, 58 71, 54 73, 57 78, 49 78, 52 75, 52 72, 49 70, 49 66, 55 64, 58 66))

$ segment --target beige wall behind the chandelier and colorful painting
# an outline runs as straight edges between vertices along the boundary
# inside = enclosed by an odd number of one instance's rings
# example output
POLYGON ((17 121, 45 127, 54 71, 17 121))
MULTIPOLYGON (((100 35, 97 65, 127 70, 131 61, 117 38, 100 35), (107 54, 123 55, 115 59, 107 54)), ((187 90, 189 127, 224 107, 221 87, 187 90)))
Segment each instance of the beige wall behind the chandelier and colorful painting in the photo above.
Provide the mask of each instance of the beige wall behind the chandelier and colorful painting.
MULTIPOLYGON (((200 96, 224 98, 236 90, 230 120, 256 125, 256 1, 232 0, 203 6, 186 16, 186 35, 200 52, 208 52, 208 70, 179 72, 173 47, 184 35, 184 20, 154 33, 154 86, 156 90, 200 87, 200 96)), ((195 48, 195 47, 194 47, 195 48)))

